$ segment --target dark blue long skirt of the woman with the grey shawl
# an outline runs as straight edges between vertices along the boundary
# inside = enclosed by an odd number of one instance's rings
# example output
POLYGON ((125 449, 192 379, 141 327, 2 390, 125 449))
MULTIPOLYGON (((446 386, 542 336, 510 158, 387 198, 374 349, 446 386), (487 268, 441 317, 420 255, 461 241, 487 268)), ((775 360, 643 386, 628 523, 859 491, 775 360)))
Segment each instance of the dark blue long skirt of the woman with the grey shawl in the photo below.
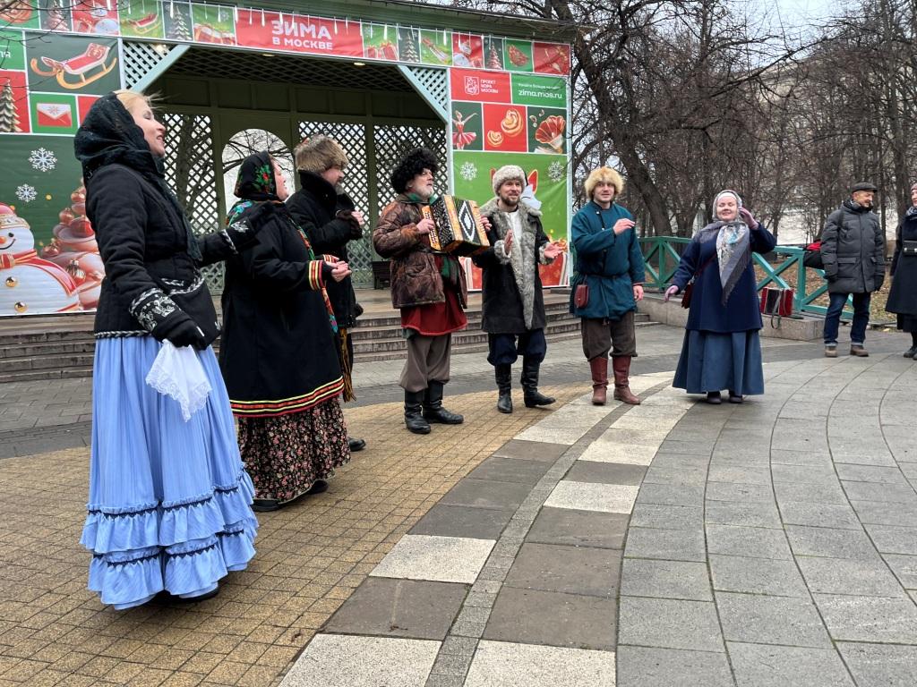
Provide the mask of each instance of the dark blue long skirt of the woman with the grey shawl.
POLYGON ((761 339, 757 330, 713 333, 689 330, 672 381, 689 394, 728 389, 740 396, 764 393, 761 339))

